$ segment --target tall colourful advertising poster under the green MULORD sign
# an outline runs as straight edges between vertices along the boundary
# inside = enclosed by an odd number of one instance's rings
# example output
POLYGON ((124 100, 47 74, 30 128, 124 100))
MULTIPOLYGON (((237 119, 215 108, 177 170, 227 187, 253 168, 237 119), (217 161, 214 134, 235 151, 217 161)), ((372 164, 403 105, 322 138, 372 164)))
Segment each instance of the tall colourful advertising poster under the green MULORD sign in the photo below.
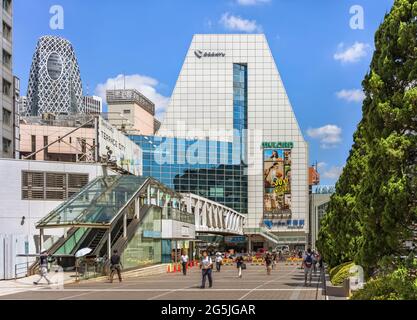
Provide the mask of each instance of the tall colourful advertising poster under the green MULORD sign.
POLYGON ((291 149, 264 149, 264 218, 291 217, 291 149))

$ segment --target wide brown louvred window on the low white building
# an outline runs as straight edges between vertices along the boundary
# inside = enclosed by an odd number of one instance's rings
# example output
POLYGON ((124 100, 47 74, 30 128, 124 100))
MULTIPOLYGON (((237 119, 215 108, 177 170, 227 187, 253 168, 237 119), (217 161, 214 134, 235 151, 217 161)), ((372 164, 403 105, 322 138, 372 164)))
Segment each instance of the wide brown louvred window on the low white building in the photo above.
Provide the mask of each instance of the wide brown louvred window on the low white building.
POLYGON ((22 172, 23 200, 67 200, 88 184, 88 174, 22 172))

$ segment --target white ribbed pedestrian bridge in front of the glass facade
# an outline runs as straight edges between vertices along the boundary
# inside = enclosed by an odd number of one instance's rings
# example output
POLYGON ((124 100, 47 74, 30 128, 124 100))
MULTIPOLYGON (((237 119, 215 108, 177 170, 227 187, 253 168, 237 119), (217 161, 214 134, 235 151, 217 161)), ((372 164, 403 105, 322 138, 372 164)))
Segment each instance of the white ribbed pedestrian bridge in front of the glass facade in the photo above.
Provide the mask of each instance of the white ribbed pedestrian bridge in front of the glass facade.
POLYGON ((192 193, 183 194, 186 211, 195 215, 195 231, 220 235, 243 235, 246 216, 192 193))

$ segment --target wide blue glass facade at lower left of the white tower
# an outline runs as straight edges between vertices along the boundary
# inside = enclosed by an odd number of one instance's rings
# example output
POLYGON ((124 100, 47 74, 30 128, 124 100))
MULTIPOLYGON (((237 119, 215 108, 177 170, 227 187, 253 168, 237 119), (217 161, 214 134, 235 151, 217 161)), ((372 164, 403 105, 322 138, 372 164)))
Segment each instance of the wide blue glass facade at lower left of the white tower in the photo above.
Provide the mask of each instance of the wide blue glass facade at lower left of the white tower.
POLYGON ((247 213, 245 166, 236 159, 232 143, 156 136, 130 138, 143 150, 144 176, 177 192, 191 192, 247 213))

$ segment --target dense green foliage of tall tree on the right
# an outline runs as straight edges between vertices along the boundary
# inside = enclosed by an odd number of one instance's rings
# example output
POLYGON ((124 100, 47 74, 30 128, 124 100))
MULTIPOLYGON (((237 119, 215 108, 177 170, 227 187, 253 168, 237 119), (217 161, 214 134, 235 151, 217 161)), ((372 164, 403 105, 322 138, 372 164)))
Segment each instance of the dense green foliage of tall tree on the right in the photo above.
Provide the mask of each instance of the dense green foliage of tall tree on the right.
POLYGON ((319 234, 331 266, 370 275, 405 254, 416 223, 417 0, 396 0, 375 35, 362 120, 319 234))

